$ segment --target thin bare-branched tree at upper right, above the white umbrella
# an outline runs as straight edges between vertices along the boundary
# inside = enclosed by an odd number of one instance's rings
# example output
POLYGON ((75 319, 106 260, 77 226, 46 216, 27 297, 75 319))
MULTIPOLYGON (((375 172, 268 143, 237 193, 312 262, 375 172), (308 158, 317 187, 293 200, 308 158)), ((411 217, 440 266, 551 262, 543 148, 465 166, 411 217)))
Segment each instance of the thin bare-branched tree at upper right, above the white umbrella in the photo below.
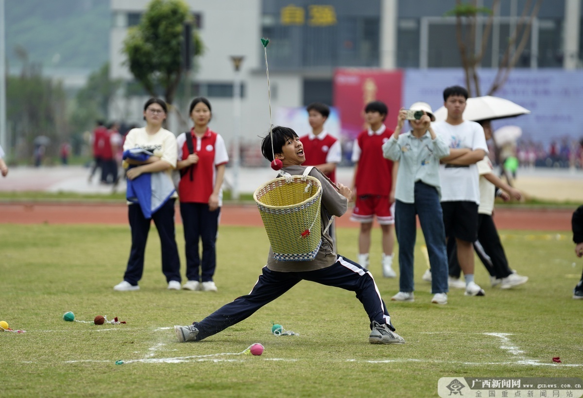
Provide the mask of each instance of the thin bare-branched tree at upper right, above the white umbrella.
MULTIPOLYGON (((499 3, 500 0, 493 0, 492 9, 498 9, 499 3)), ((517 64, 522 51, 524 51, 526 43, 528 43, 531 34, 532 20, 538 15, 542 0, 536 0, 536 3, 533 6, 531 3, 531 0, 526 0, 516 28, 510 33, 510 37, 508 37, 504 55, 498 65, 496 78, 494 78, 494 82, 487 93, 489 96, 493 95, 498 89, 504 86, 504 83, 508 79, 508 75, 510 75, 510 71, 517 64)), ((462 3, 461 0, 456 0, 454 9, 446 13, 446 15, 456 17, 456 38, 458 41, 459 54, 462 58, 463 71, 465 72, 466 87, 468 88, 470 97, 473 97, 474 94, 476 97, 482 95, 480 94, 480 78, 477 73, 477 68, 479 68, 480 62, 482 62, 486 45, 490 39, 492 22, 494 19, 494 12, 492 9, 478 7, 477 0, 472 0, 470 3, 462 3), (476 48, 476 27, 477 24, 480 23, 478 21, 478 16, 480 14, 485 14, 489 17, 486 20, 484 31, 482 33, 482 44, 480 48, 476 48)))

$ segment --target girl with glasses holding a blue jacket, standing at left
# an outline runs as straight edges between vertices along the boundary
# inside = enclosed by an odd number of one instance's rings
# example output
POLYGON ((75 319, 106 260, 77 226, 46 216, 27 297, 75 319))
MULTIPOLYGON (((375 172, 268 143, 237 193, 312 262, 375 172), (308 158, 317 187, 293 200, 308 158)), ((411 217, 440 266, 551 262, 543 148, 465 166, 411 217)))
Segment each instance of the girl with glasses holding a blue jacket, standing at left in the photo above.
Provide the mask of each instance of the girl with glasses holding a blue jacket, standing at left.
POLYGON ((150 98, 143 111, 146 126, 129 131, 124 142, 132 247, 124 280, 114 286, 116 291, 139 290, 151 220, 160 236, 162 273, 168 289, 180 290, 180 259, 174 227, 177 193, 170 174, 176 167, 177 150, 174 134, 162 126, 166 116, 166 103, 150 98))

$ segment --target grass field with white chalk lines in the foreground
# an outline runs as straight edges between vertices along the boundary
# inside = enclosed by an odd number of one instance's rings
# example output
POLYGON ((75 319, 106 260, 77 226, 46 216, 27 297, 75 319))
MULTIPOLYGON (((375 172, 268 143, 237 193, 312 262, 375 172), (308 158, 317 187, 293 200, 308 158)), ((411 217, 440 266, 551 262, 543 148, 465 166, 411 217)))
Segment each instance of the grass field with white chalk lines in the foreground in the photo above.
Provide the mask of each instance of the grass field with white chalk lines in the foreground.
MULTIPOLYGON (((0 333, 0 395, 429 397, 437 396, 443 376, 580 377, 583 302, 571 294, 581 261, 571 235, 501 233, 511 266, 531 278, 528 284, 490 288, 477 262, 486 297, 454 290, 444 306, 430 304, 430 285, 421 280, 421 236, 413 303, 390 301, 398 280, 380 277, 374 245, 371 271, 405 345, 369 344, 368 319, 354 294, 308 282, 222 333, 181 344, 168 328, 200 320, 251 290, 268 250, 263 228, 220 228, 218 293, 167 291, 152 228, 141 290, 117 293, 127 226, 2 224, 0 320, 26 333, 0 333), (127 325, 65 322, 66 311, 88 321, 118 316, 127 325), (273 336, 272 321, 300 336, 273 336), (240 353, 256 342, 265 346, 261 357, 194 357, 240 353), (170 359, 178 357, 191 358, 170 359)), ((338 234, 340 253, 356 257, 357 230, 338 234)), ((380 242, 378 231, 373 239, 380 242)), ((181 229, 177 241, 182 255, 181 229)))

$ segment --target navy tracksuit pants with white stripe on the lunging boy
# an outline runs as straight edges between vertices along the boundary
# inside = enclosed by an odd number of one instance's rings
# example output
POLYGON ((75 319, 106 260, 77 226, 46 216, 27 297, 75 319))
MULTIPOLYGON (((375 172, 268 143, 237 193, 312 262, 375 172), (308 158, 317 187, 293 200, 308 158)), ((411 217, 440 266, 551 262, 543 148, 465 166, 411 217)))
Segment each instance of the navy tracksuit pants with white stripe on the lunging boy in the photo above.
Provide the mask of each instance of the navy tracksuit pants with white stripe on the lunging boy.
POLYGON ((223 305, 201 322, 192 323, 199 330, 196 340, 205 339, 247 319, 259 308, 286 293, 301 280, 356 292, 356 298, 363 304, 370 322, 375 320, 381 324, 388 323, 389 329, 395 330, 391 325, 387 306, 382 301, 371 273, 357 263, 338 256, 338 260, 331 266, 315 271, 278 272, 268 269, 267 266, 263 267, 263 273, 259 276, 251 293, 223 305))

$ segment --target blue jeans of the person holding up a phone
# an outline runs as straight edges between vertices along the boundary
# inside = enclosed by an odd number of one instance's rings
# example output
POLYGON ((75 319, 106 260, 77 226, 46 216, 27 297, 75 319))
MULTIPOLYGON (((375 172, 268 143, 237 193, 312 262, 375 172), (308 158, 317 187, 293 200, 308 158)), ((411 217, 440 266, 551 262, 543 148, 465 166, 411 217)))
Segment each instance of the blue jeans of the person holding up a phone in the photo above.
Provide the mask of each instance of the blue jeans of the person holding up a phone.
POLYGON ((395 202, 395 232, 399 242, 399 291, 412 292, 413 251, 419 216, 431 265, 431 293, 447 293, 447 252, 445 229, 437 189, 421 181, 415 183, 415 203, 395 202))

